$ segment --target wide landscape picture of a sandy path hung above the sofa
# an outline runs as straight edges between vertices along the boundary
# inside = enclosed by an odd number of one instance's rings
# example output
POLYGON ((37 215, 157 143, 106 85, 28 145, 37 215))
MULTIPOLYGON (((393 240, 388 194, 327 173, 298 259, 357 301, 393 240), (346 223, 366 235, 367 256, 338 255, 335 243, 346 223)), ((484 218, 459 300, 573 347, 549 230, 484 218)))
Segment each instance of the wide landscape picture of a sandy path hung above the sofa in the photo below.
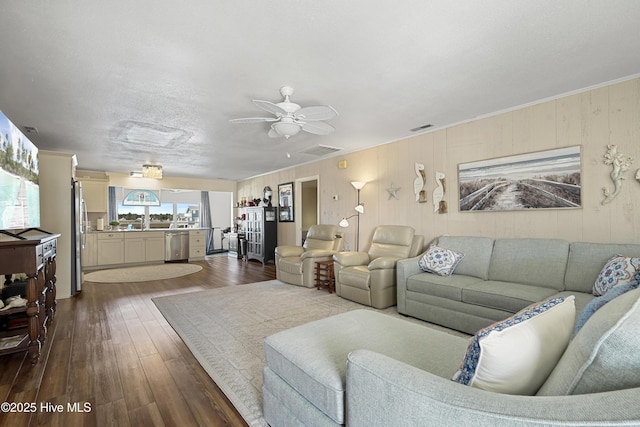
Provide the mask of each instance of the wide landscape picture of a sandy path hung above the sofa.
POLYGON ((459 164, 460 212, 580 208, 580 148, 459 164))

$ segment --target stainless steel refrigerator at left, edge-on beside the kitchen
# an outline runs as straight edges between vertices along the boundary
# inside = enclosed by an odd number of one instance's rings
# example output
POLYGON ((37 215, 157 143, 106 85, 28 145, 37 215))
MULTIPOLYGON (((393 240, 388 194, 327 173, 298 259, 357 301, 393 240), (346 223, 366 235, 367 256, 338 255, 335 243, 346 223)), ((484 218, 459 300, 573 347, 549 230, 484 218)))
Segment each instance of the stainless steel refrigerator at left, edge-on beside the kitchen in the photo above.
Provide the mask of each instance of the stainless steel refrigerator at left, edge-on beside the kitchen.
POLYGON ((82 290, 82 249, 86 242, 87 207, 82 198, 82 183, 71 179, 71 295, 82 290))

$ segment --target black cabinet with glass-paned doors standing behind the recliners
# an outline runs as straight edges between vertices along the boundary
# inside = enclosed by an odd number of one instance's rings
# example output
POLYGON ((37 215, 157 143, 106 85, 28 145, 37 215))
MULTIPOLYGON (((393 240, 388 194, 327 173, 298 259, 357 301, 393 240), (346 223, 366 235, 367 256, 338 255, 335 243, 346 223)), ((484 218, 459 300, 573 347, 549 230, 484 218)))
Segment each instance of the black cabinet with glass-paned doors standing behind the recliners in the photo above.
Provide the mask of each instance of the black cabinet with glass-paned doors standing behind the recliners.
POLYGON ((276 207, 245 208, 245 239, 247 259, 266 264, 276 260, 278 246, 278 212, 276 207))

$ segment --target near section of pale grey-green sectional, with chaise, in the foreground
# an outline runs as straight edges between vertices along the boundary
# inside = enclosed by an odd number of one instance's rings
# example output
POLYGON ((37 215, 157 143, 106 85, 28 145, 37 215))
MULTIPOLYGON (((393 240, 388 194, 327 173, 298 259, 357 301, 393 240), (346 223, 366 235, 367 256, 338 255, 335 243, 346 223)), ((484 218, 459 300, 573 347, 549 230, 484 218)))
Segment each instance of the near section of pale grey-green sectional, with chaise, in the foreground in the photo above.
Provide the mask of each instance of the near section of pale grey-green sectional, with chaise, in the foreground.
POLYGON ((354 310, 266 338, 264 415, 272 427, 640 426, 638 331, 640 288, 596 311, 537 394, 518 396, 451 380, 468 338, 354 310))

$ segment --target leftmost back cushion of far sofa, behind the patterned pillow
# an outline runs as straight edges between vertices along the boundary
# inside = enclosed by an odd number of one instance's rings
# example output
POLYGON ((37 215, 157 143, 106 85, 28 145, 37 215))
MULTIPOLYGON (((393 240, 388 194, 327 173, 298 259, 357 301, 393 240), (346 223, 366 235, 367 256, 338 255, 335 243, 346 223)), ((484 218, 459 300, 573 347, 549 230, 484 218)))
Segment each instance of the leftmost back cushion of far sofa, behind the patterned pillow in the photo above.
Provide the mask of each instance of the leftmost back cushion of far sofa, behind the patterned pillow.
POLYGON ((493 239, 477 236, 441 236, 438 246, 465 254, 455 274, 464 274, 487 280, 493 250, 493 239))

